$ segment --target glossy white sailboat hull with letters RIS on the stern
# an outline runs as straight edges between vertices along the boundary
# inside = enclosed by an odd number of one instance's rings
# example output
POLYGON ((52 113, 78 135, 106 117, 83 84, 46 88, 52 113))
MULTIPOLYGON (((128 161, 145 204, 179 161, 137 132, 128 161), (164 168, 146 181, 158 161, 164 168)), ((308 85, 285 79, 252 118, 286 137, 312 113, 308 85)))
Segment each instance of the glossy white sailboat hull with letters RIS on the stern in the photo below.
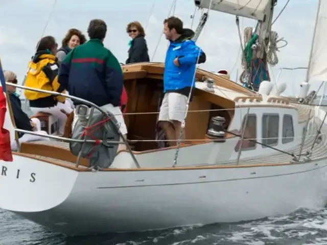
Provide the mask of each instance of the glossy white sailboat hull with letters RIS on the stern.
POLYGON ((239 222, 327 203, 325 160, 93 173, 15 155, 0 165, 0 208, 67 235, 239 222))

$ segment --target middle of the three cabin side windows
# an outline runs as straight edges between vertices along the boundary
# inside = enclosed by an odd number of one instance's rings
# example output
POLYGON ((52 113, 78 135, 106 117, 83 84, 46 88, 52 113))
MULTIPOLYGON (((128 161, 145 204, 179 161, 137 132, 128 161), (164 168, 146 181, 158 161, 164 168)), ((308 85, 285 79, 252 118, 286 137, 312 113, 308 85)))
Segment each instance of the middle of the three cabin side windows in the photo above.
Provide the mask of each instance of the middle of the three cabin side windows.
MULTIPOLYGON (((264 114, 262 116, 262 143, 265 145, 278 144, 279 115, 264 114)), ((263 148, 267 147, 262 145, 263 148)))

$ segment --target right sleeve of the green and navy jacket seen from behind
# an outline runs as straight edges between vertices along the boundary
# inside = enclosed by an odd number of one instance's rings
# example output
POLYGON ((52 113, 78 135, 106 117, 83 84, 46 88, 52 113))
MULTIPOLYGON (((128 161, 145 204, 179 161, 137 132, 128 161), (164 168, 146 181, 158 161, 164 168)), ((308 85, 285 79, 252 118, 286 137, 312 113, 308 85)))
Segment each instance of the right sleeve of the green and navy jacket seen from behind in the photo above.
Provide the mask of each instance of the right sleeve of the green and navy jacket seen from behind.
POLYGON ((106 59, 104 87, 113 106, 120 106, 124 77, 118 60, 110 53, 106 59))

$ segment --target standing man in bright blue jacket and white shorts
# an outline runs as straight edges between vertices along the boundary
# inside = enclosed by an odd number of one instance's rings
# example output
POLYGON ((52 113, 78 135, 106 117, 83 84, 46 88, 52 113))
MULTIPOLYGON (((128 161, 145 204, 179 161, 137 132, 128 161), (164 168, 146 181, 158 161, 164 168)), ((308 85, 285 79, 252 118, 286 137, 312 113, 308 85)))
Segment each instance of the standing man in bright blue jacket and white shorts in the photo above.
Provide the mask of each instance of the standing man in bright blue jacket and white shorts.
POLYGON ((164 129, 170 145, 176 145, 184 120, 191 88, 195 87, 194 72, 197 63, 205 62, 205 54, 190 40, 194 32, 183 29, 177 17, 164 20, 164 34, 170 41, 165 60, 164 99, 158 121, 164 129), (192 36, 190 36, 192 35, 192 36))

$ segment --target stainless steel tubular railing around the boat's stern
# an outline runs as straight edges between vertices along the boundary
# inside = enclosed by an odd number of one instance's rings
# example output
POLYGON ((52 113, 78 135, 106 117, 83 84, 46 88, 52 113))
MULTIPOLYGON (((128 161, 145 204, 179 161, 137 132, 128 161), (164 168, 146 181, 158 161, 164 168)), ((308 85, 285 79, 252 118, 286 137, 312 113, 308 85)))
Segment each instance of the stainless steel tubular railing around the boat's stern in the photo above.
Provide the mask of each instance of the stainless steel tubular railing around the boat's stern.
MULTIPOLYGON (((109 117, 109 114, 106 111, 104 111, 103 109, 101 109, 101 107, 97 106, 96 104, 94 104, 92 102, 89 102, 87 100, 83 100, 83 99, 81 99, 79 97, 76 97, 76 96, 72 96, 72 95, 69 95, 69 94, 66 94, 66 93, 58 93, 58 92, 55 92, 55 91, 38 89, 38 88, 30 88, 30 87, 26 87, 24 85, 18 85, 18 84, 9 83, 9 82, 6 82, 6 85, 13 86, 13 87, 16 87, 16 88, 21 88, 21 89, 27 89, 27 90, 35 91, 35 92, 48 93, 48 94, 53 94, 53 95, 57 95, 57 96, 59 96, 59 95, 64 96, 64 97, 67 97, 67 98, 82 102, 83 104, 89 105, 91 107, 95 107, 102 114, 109 117)), ((89 115, 89 116, 92 116, 92 115, 89 115)), ((118 132, 119 136, 123 139, 123 142, 121 142, 121 141, 112 141, 112 143, 116 143, 116 144, 124 143, 126 145, 126 147, 127 147, 128 152, 130 153, 136 167, 141 168, 141 166, 138 164, 138 162, 137 162, 137 160, 136 160, 136 158, 135 158, 135 156, 134 156, 134 154, 132 152, 132 149, 130 148, 130 146, 129 146, 128 142, 127 142, 127 139, 125 139, 124 135, 122 135, 119 128, 115 124, 114 124, 114 126, 115 126, 116 131, 118 132)), ((75 139, 69 139, 69 138, 60 137, 60 136, 38 134, 38 133, 35 133, 35 132, 32 132, 32 131, 21 130, 21 129, 17 129, 17 128, 15 128, 15 131, 16 132, 21 132, 21 133, 32 134, 32 135, 38 135, 38 136, 42 136, 42 137, 53 138, 53 139, 60 139, 60 140, 69 141, 69 142, 81 142, 81 143, 83 143, 83 142, 96 142, 96 140, 86 140, 86 141, 84 139, 83 140, 75 140, 75 139)), ((97 141, 97 142, 99 142, 99 141, 97 141)), ((103 143, 103 140, 100 140, 100 142, 103 143)), ((109 141, 106 141, 106 142, 109 142, 109 141)), ((77 164, 78 164, 78 162, 77 162, 77 164)))

